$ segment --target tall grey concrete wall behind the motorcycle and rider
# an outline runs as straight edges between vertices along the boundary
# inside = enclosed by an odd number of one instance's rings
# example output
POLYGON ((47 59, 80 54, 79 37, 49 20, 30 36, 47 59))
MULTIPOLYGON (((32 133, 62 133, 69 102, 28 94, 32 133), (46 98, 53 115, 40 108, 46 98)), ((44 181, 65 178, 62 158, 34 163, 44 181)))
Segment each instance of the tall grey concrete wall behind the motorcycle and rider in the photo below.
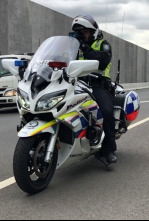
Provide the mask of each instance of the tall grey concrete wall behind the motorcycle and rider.
MULTIPOLYGON (((68 35, 73 18, 30 0, 0 0, 0 54, 35 52, 48 37, 68 35)), ((149 82, 149 51, 111 34, 111 77, 116 79, 121 60, 121 83, 149 82)))

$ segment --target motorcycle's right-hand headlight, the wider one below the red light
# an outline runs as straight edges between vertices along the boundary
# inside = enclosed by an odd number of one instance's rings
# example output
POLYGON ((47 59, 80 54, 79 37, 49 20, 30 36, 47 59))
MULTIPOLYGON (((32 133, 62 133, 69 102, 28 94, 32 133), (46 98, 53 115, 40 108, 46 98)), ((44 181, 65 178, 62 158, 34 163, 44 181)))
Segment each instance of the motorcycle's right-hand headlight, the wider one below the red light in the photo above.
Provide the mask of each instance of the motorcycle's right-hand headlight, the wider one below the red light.
POLYGON ((51 108, 56 106, 59 102, 61 102, 63 99, 64 99, 64 95, 61 95, 55 98, 50 98, 50 99, 44 99, 43 97, 41 98, 41 100, 37 102, 36 111, 50 110, 51 108))

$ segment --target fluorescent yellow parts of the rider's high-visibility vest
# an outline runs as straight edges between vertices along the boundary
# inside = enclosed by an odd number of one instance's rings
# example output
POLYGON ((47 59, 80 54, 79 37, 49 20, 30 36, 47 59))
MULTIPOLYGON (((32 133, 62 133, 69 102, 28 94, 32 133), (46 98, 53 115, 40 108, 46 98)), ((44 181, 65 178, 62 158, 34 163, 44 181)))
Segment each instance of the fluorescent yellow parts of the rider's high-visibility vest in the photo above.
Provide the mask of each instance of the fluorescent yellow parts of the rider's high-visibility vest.
MULTIPOLYGON (((101 44, 104 40, 101 40, 101 41, 95 41, 91 48, 96 50, 96 51, 100 51, 100 48, 101 48, 101 44)), ((83 55, 83 52, 81 49, 79 49, 79 60, 84 60, 84 55, 83 55)), ((110 70, 111 70, 111 65, 112 63, 109 63, 108 66, 106 67, 106 69, 104 71, 100 71, 100 73, 104 76, 104 77, 108 77, 110 78, 110 70)))

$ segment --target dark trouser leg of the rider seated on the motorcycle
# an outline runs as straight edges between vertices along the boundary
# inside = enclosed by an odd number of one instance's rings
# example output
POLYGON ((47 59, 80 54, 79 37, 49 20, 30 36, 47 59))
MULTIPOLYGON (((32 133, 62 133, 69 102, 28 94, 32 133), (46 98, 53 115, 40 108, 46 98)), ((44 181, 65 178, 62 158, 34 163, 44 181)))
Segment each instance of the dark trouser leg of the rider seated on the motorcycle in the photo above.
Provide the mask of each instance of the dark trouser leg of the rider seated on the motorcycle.
POLYGON ((100 86, 93 87, 93 95, 101 109, 104 122, 103 129, 105 132, 105 139, 103 142, 103 151, 105 153, 115 152, 117 150, 115 141, 115 118, 114 118, 114 97, 105 88, 100 86))

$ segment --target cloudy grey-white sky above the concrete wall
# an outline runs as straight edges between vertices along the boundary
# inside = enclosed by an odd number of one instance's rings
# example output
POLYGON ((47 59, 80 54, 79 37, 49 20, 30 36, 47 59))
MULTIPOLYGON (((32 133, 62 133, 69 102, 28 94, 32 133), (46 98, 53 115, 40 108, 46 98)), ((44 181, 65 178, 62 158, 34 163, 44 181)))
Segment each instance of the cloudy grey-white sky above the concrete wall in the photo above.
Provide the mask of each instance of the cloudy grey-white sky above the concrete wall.
POLYGON ((149 0, 31 1, 72 18, 91 15, 101 30, 149 50, 149 0))

